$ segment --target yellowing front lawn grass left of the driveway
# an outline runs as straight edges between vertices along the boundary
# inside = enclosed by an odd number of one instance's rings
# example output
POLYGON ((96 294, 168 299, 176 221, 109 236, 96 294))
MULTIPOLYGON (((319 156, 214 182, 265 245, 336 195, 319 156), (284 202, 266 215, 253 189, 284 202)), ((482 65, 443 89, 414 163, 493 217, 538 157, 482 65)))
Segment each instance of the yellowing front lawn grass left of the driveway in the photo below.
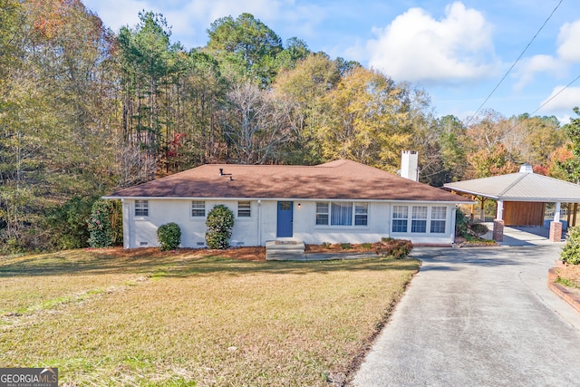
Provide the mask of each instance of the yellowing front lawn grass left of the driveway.
POLYGON ((342 384, 419 265, 157 249, 0 257, 0 365, 58 367, 67 386, 342 384))

